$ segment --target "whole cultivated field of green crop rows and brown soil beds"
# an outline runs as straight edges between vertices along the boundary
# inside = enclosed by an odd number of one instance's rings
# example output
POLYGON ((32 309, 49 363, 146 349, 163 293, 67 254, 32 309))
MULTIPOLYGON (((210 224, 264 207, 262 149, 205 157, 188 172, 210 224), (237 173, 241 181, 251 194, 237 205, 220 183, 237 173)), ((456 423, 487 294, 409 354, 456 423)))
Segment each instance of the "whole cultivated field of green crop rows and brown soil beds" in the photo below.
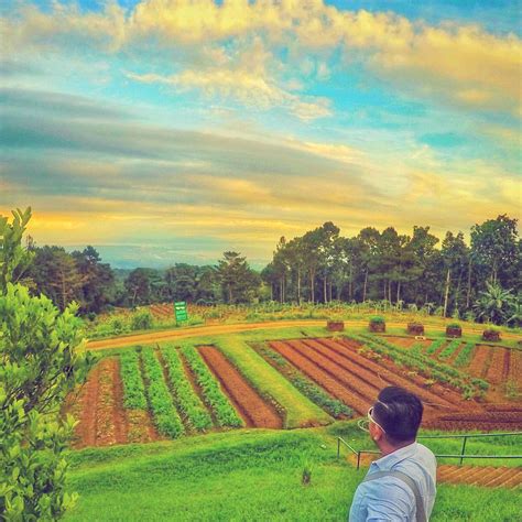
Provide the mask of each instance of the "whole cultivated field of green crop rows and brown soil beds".
POLYGON ((363 416, 392 384, 422 398, 426 428, 520 429, 520 351, 470 346, 283 328, 120 348, 68 401, 74 447, 320 426, 363 416))

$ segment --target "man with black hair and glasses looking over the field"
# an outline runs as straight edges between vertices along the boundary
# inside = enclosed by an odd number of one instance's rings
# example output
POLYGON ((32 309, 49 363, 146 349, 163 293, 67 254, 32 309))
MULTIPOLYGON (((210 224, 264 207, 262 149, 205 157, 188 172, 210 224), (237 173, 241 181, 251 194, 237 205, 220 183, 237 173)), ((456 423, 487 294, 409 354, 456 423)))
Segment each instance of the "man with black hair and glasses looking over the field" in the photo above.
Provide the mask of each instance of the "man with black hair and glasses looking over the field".
POLYGON ((369 432, 382 457, 357 488, 350 522, 427 521, 436 494, 437 463, 415 442, 423 405, 409 391, 384 388, 368 411, 369 432))

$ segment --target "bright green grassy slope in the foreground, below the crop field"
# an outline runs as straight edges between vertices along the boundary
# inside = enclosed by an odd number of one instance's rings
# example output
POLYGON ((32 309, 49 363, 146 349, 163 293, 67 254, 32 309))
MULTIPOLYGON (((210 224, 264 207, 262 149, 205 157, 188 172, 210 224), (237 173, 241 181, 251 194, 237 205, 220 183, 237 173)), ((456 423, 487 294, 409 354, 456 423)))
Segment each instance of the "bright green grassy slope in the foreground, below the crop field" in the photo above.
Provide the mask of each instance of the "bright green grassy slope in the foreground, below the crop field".
MULTIPOLYGON (((365 471, 336 460, 329 431, 240 431, 75 452, 70 482, 80 499, 67 519, 346 520, 365 471)), ((515 520, 516 499, 520 492, 442 485, 431 520, 515 520)))

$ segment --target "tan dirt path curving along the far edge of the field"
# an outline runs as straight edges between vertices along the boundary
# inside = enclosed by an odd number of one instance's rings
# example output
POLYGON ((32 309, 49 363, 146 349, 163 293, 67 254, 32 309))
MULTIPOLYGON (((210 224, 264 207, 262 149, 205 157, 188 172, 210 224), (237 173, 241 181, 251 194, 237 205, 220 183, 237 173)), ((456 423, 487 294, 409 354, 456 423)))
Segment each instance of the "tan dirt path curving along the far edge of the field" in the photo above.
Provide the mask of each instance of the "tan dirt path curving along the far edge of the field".
MULTIPOLYGON (((113 339, 102 339, 89 341, 87 348, 89 350, 104 350, 110 348, 120 348, 132 345, 148 345, 153 342, 161 342, 171 339, 185 339, 188 337, 198 337, 205 335, 221 335, 221 334, 238 334, 240 331, 251 331, 257 329, 271 328, 287 328, 287 327, 305 327, 305 326, 325 326, 326 322, 320 320, 274 320, 268 323, 242 323, 237 325, 213 325, 213 326, 196 326, 191 328, 176 328, 163 331, 152 331, 150 334, 130 335, 124 337, 116 337, 113 339)), ((367 320, 345 320, 346 327, 367 326, 367 320)), ((404 323, 394 323, 388 325, 391 328, 404 328, 404 323)), ((444 331, 444 327, 425 325, 426 329, 436 331, 444 331)), ((481 333, 480 328, 467 328, 467 333, 481 333)), ((505 339, 518 339, 520 335, 504 334, 505 339)))

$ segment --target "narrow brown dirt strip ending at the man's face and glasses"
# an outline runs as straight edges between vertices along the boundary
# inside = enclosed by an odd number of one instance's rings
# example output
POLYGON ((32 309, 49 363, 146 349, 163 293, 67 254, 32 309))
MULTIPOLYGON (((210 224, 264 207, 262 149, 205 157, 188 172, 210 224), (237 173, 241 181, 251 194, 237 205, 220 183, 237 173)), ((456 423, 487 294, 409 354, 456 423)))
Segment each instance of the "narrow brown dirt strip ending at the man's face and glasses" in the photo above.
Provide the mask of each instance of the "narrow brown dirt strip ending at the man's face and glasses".
POLYGON ((371 406, 370 401, 362 400, 359 395, 348 390, 329 373, 323 371, 316 365, 293 350, 287 344, 279 340, 271 341, 270 347, 305 373, 316 384, 324 388, 330 395, 352 407, 357 413, 363 415, 371 406))

